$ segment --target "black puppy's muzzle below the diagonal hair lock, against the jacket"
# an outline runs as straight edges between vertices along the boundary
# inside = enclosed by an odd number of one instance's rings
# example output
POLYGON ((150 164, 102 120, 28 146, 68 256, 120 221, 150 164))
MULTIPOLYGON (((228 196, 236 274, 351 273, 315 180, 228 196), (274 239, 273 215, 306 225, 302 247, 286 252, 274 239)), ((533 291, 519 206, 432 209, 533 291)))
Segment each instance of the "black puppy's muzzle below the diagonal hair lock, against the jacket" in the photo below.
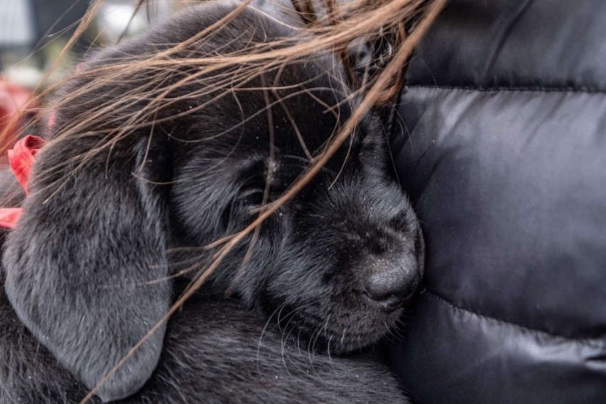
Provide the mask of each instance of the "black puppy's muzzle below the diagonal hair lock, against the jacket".
POLYGON ((344 166, 331 164, 275 218, 279 252, 256 296, 267 314, 302 331, 299 340, 331 353, 385 335, 423 271, 420 225, 387 174, 386 138, 371 120, 345 146, 344 166))

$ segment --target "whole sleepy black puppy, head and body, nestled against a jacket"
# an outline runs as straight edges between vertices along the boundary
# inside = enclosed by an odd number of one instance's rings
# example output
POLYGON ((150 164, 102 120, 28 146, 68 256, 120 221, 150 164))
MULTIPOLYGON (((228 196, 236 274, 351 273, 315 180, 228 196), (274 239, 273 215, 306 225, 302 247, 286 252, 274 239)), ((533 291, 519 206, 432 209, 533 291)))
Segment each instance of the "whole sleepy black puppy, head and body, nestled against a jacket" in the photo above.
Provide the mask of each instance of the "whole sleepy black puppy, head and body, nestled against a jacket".
MULTIPOLYGON (((304 41, 253 9, 206 33, 234 9, 188 9, 99 53, 65 88, 5 236, 0 403, 83 399, 214 260, 203 246, 257 218, 351 115, 329 53, 240 82, 241 66, 199 73, 200 58, 304 41)), ((405 402, 361 351, 390 332, 423 269, 389 167, 368 115, 92 400, 405 402)))

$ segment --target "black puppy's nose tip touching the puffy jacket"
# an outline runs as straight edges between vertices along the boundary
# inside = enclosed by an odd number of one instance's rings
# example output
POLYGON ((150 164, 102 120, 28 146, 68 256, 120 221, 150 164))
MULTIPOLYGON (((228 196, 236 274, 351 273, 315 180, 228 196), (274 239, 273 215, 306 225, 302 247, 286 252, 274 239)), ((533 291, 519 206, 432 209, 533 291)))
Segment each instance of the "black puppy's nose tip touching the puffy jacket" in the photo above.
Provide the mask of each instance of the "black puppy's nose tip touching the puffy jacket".
POLYGON ((386 312, 393 312, 413 296, 420 281, 419 262, 408 254, 397 260, 379 259, 366 280, 364 294, 386 312))

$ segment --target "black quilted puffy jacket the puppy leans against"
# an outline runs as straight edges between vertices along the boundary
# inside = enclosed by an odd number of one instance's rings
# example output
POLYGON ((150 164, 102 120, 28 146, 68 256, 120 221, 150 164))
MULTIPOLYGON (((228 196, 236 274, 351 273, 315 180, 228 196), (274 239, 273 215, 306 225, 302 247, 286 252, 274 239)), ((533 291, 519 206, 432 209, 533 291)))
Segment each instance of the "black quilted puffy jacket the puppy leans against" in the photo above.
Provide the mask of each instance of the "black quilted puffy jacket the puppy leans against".
POLYGON ((606 403, 606 1, 453 0, 393 154, 427 240, 417 403, 606 403))

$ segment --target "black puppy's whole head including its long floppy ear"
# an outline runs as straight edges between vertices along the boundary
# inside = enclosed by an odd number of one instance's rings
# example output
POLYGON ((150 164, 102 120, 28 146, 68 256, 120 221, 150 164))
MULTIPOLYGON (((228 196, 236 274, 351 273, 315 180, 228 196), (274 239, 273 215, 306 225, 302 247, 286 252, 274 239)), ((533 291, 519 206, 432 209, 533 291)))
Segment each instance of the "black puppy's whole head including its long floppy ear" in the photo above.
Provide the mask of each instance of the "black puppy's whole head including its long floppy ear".
MULTIPOLYGON (((199 74, 197 58, 297 41, 250 9, 198 36, 233 9, 194 7, 84 65, 6 241, 6 294, 18 317, 85 386, 102 381, 103 400, 134 393, 154 371, 164 326, 104 379, 166 313, 170 275, 213 259, 205 249, 176 251, 245 228, 356 104, 329 53, 269 63, 250 80, 238 79, 246 66, 199 74)), ((419 225, 389 167, 385 134, 368 115, 321 173, 235 248, 211 286, 231 287, 267 316, 288 314, 318 348, 376 341, 423 265, 419 225)))

